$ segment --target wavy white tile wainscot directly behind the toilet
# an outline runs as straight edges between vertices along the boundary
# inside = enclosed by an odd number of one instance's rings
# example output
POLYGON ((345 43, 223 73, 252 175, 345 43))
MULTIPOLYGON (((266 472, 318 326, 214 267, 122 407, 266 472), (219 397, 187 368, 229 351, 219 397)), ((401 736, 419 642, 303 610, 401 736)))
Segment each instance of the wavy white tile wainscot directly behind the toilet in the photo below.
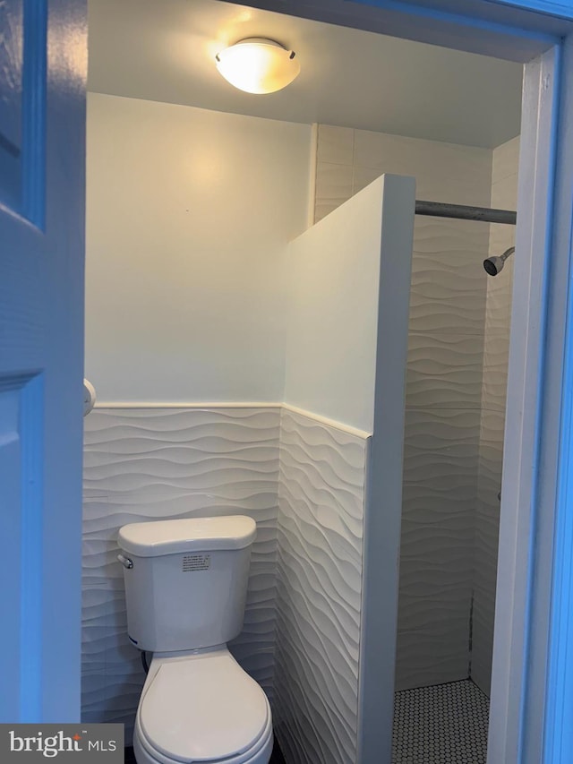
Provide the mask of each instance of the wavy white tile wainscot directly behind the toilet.
POLYGON ((96 409, 85 419, 82 718, 123 722, 143 683, 127 640, 117 531, 151 519, 247 514, 257 522, 241 665, 272 694, 278 408, 96 409))

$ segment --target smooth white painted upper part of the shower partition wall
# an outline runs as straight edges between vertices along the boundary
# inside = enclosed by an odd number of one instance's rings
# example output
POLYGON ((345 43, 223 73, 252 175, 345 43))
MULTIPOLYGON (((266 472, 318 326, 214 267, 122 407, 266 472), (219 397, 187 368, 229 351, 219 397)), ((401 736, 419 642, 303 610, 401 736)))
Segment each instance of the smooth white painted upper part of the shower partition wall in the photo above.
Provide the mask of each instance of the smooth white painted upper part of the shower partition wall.
MULTIPOLYGON (((295 239, 288 252, 285 401, 368 433, 383 193, 381 177, 295 239)), ((403 214, 407 229, 412 211, 403 214)))

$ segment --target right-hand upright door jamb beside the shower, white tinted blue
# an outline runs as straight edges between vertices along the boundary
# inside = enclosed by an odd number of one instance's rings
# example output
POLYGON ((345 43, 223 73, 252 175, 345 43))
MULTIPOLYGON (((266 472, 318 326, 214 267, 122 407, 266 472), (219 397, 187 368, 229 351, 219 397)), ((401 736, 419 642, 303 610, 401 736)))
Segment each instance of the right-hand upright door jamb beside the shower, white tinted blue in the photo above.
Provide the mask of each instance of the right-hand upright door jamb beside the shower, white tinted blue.
POLYGON ((550 361, 545 338, 553 332, 562 334, 564 314, 554 316, 557 321, 550 331, 547 308, 550 295, 555 305, 562 301, 566 283, 566 279, 552 279, 561 56, 560 46, 555 46, 524 68, 517 185, 519 257, 513 276, 488 740, 491 762, 542 761, 543 653, 548 648, 547 643, 543 645, 542 624, 548 619, 554 493, 547 481, 545 495, 540 492, 540 468, 547 464, 552 445, 550 441, 549 449, 545 447, 542 438, 543 430, 552 424, 544 401, 544 377, 560 365, 556 356, 550 361), (535 684, 537 690, 532 692, 535 684))

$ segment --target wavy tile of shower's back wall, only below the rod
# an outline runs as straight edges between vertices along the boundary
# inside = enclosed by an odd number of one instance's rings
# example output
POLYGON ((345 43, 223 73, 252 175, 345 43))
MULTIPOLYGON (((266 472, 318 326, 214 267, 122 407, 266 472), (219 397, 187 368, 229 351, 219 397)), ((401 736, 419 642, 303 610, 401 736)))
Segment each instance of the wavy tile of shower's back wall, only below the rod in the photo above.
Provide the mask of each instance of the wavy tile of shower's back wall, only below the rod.
POLYGON ((468 221, 415 224, 398 690, 469 670, 488 235, 468 221))

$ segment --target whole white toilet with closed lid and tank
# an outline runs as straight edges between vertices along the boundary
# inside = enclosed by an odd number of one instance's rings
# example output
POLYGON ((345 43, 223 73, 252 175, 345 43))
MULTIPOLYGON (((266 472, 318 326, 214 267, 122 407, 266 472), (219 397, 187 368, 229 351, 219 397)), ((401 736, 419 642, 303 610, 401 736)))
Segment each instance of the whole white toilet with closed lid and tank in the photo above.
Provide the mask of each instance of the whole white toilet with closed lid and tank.
POLYGON ((227 649, 243 628, 256 525, 243 516, 119 531, 129 638, 153 652, 133 734, 138 764, 267 764, 267 696, 227 649))

